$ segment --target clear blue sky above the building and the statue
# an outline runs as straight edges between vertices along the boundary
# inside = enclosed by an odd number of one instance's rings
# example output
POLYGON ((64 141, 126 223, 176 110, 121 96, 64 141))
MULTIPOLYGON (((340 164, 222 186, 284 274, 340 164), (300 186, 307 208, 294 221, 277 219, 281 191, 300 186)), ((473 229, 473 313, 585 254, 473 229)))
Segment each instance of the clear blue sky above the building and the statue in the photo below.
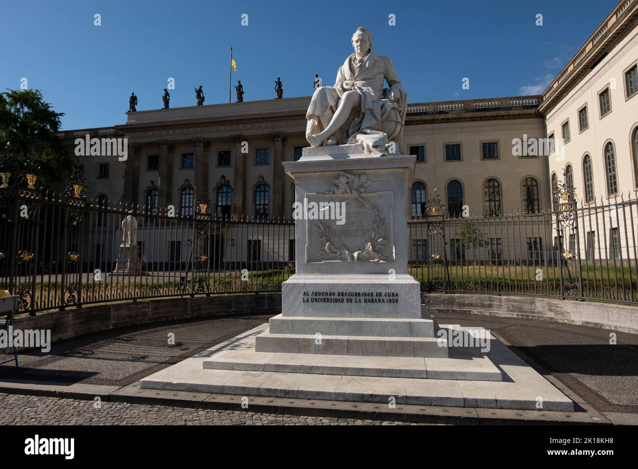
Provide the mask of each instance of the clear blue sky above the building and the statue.
POLYGON ((138 110, 162 107, 168 77, 171 107, 195 105, 200 85, 206 104, 228 102, 232 46, 245 101, 274 98, 277 77, 285 98, 308 96, 315 73, 334 83, 350 36, 364 26, 412 103, 538 94, 616 3, 5 0, 0 89, 24 77, 66 113, 64 129, 112 126, 126 121, 131 91, 138 110), (461 89, 464 77, 470 89, 461 89))

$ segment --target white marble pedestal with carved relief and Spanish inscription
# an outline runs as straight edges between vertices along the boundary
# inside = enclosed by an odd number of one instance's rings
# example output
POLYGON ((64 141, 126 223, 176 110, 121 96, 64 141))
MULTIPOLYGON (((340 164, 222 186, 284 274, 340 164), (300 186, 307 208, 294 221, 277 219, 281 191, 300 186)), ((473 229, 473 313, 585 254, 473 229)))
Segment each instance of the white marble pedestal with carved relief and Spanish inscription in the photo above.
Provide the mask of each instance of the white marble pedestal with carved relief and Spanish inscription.
POLYGON ((371 158, 360 145, 305 148, 295 180, 295 275, 282 315, 421 318, 408 272, 407 200, 415 157, 371 158))

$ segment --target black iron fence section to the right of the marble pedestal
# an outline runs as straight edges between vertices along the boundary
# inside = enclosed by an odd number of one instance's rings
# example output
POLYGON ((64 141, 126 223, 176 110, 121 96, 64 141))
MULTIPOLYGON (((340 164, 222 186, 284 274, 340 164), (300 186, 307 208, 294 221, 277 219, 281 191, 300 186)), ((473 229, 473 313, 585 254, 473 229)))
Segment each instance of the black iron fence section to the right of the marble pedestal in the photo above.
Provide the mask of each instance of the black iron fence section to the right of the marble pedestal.
POLYGON ((410 272, 426 292, 493 293, 638 303, 638 200, 447 218, 443 205, 408 223, 410 272), (433 213, 434 212, 434 213, 433 213))

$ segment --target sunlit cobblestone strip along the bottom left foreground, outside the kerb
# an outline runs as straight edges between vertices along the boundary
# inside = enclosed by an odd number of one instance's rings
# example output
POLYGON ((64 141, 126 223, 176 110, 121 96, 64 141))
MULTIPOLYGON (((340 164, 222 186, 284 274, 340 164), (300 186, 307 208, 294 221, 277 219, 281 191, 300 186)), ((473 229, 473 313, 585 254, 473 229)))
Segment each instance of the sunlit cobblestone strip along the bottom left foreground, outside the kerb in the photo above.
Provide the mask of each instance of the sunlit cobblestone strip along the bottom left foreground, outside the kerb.
POLYGON ((233 410, 19 396, 0 393, 0 425, 416 425, 233 410))

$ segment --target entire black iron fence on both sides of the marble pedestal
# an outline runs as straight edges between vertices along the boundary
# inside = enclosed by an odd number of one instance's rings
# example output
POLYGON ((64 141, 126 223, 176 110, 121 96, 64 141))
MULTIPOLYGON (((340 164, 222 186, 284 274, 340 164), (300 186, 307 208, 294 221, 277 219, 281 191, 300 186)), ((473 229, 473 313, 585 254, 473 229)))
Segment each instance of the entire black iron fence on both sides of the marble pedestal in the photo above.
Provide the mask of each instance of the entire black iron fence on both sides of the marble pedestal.
MULTIPOLYGON (((56 195, 3 173, 0 288, 32 315, 100 302, 278 292, 294 273, 292 220, 106 207, 82 178, 56 195)), ((638 303, 638 201, 578 207, 558 190, 549 211, 448 218, 437 197, 408 222, 409 269, 424 292, 638 303)))

